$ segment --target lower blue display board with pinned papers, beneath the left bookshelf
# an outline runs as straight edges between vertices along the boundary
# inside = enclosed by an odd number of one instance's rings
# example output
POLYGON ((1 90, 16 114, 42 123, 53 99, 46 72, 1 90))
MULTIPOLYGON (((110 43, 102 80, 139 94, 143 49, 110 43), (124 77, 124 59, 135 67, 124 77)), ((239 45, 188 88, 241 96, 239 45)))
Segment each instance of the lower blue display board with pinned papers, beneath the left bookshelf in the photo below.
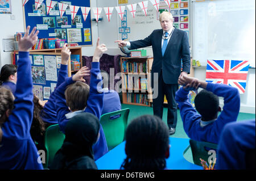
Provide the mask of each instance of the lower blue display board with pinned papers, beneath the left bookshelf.
MULTIPOLYGON (((15 60, 19 60, 19 54, 15 54, 15 60)), ((61 53, 30 53, 31 75, 33 81, 33 93, 40 100, 47 100, 57 85, 59 75, 61 53)), ((17 63, 15 61, 15 63, 17 63)))

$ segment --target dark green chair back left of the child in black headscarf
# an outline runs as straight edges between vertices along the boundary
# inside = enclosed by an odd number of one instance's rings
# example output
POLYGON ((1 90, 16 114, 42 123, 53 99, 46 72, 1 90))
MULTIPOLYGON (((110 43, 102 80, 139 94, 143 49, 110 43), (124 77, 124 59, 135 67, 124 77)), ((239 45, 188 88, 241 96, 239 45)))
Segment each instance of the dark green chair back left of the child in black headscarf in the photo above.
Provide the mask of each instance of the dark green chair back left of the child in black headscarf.
POLYGON ((44 137, 44 146, 46 146, 46 165, 48 168, 56 154, 63 145, 65 134, 60 131, 59 124, 51 125, 46 129, 44 137))

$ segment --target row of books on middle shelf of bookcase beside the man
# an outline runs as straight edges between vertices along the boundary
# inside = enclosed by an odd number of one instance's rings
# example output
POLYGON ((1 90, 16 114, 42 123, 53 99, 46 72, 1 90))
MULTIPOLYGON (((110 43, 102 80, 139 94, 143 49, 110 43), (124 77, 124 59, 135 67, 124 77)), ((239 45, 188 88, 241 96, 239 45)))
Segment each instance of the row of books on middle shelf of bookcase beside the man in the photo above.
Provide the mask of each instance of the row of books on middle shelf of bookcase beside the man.
POLYGON ((147 90, 147 79, 138 78, 134 75, 125 75, 123 76, 123 89, 134 89, 134 90, 147 90))

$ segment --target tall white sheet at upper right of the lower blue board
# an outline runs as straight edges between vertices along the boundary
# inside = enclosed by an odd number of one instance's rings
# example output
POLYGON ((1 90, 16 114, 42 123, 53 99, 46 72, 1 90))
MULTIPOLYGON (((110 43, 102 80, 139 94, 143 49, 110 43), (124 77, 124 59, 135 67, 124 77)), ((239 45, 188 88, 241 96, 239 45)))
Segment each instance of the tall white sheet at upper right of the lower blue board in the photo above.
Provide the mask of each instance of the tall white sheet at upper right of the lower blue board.
POLYGON ((46 80, 57 82, 56 57, 44 56, 44 64, 46 68, 46 80))

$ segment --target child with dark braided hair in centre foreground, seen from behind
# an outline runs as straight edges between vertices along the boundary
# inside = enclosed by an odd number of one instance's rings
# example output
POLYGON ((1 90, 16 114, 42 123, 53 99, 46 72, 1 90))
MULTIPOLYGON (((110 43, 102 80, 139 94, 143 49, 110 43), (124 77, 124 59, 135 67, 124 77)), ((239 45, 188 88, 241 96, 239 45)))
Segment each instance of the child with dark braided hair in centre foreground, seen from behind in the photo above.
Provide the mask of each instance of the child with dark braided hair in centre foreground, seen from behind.
POLYGON ((121 169, 163 170, 170 155, 167 125, 157 116, 143 115, 127 127, 125 153, 121 169))

